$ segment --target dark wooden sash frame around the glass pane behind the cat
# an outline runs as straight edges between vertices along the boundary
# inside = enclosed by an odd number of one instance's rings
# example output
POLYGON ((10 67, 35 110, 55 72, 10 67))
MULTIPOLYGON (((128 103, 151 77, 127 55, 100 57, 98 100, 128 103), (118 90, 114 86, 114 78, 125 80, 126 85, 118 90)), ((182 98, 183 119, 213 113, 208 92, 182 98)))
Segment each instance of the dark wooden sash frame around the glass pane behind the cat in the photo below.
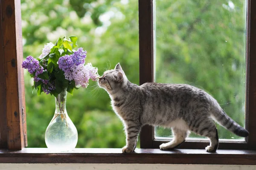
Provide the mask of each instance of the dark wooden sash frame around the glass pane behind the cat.
MULTIPOLYGON (((246 90, 245 90, 245 128, 249 136, 245 140, 219 140, 219 149, 256 149, 256 2, 247 0, 246 31, 246 90), (251 48, 252 47, 252 48, 251 48)), ((154 82, 154 32, 153 2, 148 0, 139 4, 140 32, 140 85, 154 82)), ((141 148, 159 148, 159 145, 170 141, 170 138, 155 138, 154 127, 144 126, 140 132, 141 148)), ((187 139, 179 148, 202 149, 209 144, 205 139, 187 139)))

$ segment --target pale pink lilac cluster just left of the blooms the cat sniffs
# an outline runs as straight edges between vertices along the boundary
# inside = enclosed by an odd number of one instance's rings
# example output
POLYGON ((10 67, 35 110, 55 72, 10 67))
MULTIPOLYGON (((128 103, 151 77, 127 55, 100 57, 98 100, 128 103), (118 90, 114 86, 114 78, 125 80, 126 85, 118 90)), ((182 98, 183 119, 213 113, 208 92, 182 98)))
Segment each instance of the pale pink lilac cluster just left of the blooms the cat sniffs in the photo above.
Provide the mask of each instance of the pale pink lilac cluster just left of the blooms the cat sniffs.
POLYGON ((85 67, 82 64, 78 65, 73 70, 73 79, 76 82, 76 87, 82 86, 83 88, 87 88, 90 79, 88 67, 85 67))

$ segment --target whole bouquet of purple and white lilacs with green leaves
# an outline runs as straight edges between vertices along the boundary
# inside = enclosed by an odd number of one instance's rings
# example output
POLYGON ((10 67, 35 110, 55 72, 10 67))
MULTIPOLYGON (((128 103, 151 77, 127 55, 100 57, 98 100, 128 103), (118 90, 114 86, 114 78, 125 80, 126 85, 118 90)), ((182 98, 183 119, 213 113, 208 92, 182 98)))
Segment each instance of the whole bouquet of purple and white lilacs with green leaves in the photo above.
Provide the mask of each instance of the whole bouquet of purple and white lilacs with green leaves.
POLYGON ((91 63, 85 65, 87 52, 83 48, 74 50, 77 46, 77 37, 60 37, 57 42, 44 45, 38 59, 26 57, 22 67, 27 69, 34 78, 32 89, 38 95, 43 91, 46 94, 58 96, 62 91, 73 94, 74 88, 87 88, 89 79, 97 81, 98 69, 91 63))

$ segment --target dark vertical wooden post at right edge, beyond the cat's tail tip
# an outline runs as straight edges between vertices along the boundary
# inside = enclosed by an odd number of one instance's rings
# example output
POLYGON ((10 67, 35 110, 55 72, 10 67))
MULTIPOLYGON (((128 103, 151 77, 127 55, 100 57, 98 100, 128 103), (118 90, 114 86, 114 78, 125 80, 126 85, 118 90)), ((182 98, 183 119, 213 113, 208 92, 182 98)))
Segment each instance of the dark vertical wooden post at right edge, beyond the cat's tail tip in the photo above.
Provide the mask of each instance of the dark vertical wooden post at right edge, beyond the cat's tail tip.
POLYGON ((256 149, 256 1, 248 0, 246 128, 248 149, 256 149))

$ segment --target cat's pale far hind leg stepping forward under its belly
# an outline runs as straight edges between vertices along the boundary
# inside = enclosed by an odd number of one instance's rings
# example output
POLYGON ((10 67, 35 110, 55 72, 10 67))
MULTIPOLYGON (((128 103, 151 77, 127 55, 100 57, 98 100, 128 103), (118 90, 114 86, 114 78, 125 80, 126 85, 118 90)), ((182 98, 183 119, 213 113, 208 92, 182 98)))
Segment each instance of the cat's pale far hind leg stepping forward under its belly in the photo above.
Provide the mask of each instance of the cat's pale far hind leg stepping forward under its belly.
POLYGON ((180 146, 183 142, 185 142, 186 137, 189 135, 188 130, 181 130, 179 128, 172 128, 173 139, 171 142, 164 143, 160 145, 161 150, 171 150, 175 147, 180 146))

